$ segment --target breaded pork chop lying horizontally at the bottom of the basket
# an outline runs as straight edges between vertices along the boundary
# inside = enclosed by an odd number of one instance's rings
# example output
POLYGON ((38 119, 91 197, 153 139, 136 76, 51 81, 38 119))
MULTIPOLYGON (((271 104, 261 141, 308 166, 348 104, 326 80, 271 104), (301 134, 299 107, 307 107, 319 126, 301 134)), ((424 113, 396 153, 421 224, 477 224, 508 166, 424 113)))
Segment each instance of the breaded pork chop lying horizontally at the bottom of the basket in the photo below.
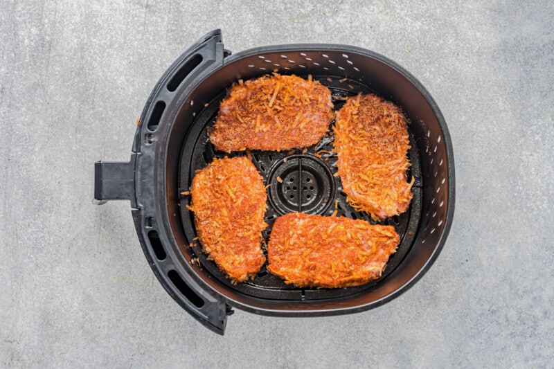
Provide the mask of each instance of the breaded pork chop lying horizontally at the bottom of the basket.
POLYGON ((267 245, 267 270, 298 287, 351 287, 381 276, 400 236, 393 226, 289 213, 267 245))

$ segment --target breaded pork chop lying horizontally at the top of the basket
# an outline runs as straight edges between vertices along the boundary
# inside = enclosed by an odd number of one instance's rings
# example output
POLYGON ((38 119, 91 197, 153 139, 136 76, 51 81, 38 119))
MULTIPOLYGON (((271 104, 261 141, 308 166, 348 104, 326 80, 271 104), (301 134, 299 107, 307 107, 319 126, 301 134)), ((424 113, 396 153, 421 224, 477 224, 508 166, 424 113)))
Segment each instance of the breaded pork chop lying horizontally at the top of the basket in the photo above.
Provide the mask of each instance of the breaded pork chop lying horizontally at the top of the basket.
POLYGON ((317 143, 333 118, 331 91, 296 75, 233 84, 210 140, 217 150, 289 150, 317 143))

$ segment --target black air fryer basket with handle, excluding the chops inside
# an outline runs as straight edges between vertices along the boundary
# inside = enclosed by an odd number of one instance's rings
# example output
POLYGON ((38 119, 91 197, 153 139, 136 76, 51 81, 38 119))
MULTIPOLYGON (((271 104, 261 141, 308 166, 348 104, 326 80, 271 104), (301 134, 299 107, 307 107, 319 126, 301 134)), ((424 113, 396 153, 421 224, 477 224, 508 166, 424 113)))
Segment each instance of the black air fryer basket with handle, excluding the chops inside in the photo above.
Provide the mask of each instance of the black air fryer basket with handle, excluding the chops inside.
MULTIPOLYGON (((251 152, 268 188, 264 232, 276 217, 294 211, 366 219, 341 190, 332 136, 307 150, 251 152), (283 159, 287 157, 286 161, 283 159), (280 177, 281 181, 277 181, 280 177)), ((244 155, 237 153, 236 155, 244 155)), ((154 87, 136 129, 128 163, 95 164, 95 198, 129 199, 136 232, 150 267, 181 307, 223 334, 232 307, 272 316, 328 316, 361 312, 406 291, 429 269, 445 243, 454 215, 454 154, 448 129, 425 88, 400 66, 363 48, 299 44, 253 48, 231 55, 220 30, 188 49, 154 87), (196 241, 190 198, 181 195, 195 170, 223 157, 208 141, 220 102, 233 82, 277 71, 329 87, 337 109, 359 91, 377 93, 400 106, 410 120, 413 200, 406 213, 388 219, 401 242, 379 280, 346 289, 301 289, 262 268, 233 285, 207 260, 196 241)))

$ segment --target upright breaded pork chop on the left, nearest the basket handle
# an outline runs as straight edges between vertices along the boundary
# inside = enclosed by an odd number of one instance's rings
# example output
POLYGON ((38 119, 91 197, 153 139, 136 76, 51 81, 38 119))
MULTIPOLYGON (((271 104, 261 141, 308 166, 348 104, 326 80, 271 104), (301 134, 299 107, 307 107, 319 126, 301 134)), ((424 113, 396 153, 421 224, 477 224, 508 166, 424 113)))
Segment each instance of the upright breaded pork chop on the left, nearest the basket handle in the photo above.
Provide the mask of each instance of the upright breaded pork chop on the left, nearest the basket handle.
POLYGON ((262 231, 266 192, 262 176, 245 157, 214 159, 198 170, 190 194, 202 250, 231 280, 243 282, 265 262, 262 231))

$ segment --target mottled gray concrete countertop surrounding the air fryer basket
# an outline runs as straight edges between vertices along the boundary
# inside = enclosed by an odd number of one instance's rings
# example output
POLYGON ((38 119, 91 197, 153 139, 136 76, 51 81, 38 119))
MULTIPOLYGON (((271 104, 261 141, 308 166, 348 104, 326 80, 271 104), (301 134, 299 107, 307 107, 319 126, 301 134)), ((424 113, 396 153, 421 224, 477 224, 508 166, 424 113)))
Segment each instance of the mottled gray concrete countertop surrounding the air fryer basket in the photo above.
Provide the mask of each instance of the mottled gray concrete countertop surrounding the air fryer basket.
POLYGON ((551 366, 554 3, 522 4, 1 0, 0 366, 551 366), (129 158, 150 90, 213 28, 232 51, 361 46, 429 89, 456 215, 406 294, 330 318, 237 311, 217 336, 154 278, 128 202, 91 204, 93 162, 129 158))

